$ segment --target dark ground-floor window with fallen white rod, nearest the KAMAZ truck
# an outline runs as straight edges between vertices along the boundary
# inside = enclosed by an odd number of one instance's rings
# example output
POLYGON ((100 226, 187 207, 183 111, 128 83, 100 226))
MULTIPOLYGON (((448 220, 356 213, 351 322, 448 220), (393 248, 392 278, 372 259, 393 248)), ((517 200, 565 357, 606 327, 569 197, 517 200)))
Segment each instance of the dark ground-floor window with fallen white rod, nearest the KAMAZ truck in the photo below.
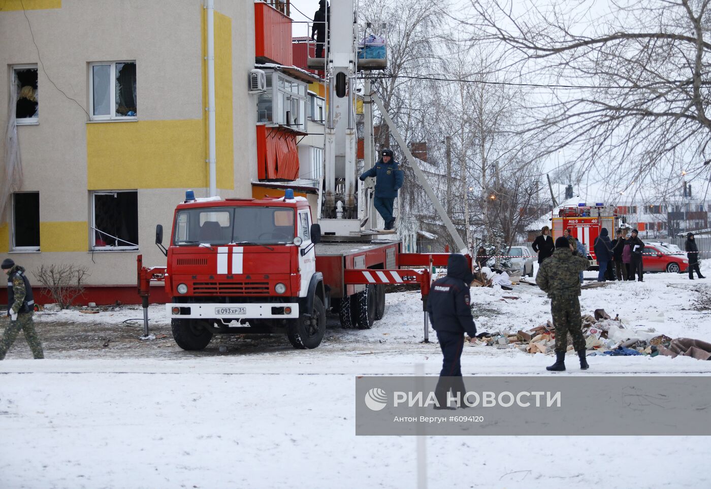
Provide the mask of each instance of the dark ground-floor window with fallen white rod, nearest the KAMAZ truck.
POLYGON ((92 249, 138 248, 138 192, 92 193, 92 249))

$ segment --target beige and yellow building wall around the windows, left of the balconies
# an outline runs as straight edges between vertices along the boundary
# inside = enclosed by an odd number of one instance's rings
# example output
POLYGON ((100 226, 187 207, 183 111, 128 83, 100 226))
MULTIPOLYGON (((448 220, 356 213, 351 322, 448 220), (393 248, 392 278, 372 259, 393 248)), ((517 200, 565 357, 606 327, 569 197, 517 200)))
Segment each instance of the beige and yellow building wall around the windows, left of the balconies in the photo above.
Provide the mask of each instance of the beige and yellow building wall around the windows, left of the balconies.
MULTIPOLYGON (((30 270, 41 264, 85 266, 90 284, 135 284, 137 254, 144 254, 146 264, 165 262, 154 244, 155 225, 164 225, 167 240, 173 208, 185 190, 207 195, 203 2, 25 3, 37 48, 23 12, 14 9, 19 2, 0 0, 0 45, 6 47, 0 50, 0 94, 7 100, 11 65, 39 64, 38 49, 44 65, 38 69, 39 124, 19 126, 18 139, 20 190, 40 194, 41 252, 10 256, 30 270), (136 60, 138 120, 90 122, 89 63, 115 60, 136 60), (88 251, 90 190, 138 191, 139 251, 88 251)), ((215 1, 217 178, 223 196, 251 195, 256 173, 256 100, 247 94, 253 32, 252 2, 215 1)), ((6 121, 7 104, 0 103, 3 134, 6 121)), ((4 144, 3 139, 0 155, 4 144)), ((11 244, 10 217, 6 206, 3 254, 11 244)))

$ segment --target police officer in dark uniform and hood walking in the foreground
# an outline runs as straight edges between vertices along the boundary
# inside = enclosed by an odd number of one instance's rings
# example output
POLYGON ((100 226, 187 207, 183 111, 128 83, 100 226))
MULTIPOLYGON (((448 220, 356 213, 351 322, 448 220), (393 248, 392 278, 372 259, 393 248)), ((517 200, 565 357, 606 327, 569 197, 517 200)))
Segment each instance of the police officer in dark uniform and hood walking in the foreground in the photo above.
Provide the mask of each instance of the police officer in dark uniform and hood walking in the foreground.
POLYGON ((452 398, 459 397, 460 406, 464 396, 464 380, 461 378, 461 350, 464 348, 464 333, 471 338, 476 335, 476 325, 469 308, 469 286, 474 275, 463 254, 453 253, 447 261, 447 276, 436 280, 429 289, 427 313, 432 328, 437 331, 439 347, 444 361, 439 382, 434 391, 439 408, 447 407, 447 392, 454 391, 452 398))

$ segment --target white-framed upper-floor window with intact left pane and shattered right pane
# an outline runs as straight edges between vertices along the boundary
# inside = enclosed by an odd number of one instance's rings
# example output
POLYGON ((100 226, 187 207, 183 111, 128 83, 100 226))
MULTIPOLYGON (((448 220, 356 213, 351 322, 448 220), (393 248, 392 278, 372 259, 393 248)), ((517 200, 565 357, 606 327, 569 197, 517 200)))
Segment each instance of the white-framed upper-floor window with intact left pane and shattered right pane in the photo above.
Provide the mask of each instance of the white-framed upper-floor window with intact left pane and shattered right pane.
POLYGON ((89 99, 93 120, 137 117, 136 62, 92 63, 89 99))

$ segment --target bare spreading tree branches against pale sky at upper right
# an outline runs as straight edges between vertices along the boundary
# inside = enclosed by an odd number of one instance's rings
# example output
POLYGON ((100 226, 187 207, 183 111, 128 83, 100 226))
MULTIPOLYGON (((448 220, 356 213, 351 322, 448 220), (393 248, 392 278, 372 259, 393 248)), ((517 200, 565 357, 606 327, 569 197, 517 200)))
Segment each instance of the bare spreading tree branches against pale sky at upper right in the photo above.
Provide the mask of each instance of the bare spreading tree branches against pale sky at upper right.
POLYGON ((542 154, 571 148, 611 185, 673 192, 670 176, 707 174, 711 158, 709 1, 471 0, 469 26, 540 85, 520 130, 555 131, 542 154))

